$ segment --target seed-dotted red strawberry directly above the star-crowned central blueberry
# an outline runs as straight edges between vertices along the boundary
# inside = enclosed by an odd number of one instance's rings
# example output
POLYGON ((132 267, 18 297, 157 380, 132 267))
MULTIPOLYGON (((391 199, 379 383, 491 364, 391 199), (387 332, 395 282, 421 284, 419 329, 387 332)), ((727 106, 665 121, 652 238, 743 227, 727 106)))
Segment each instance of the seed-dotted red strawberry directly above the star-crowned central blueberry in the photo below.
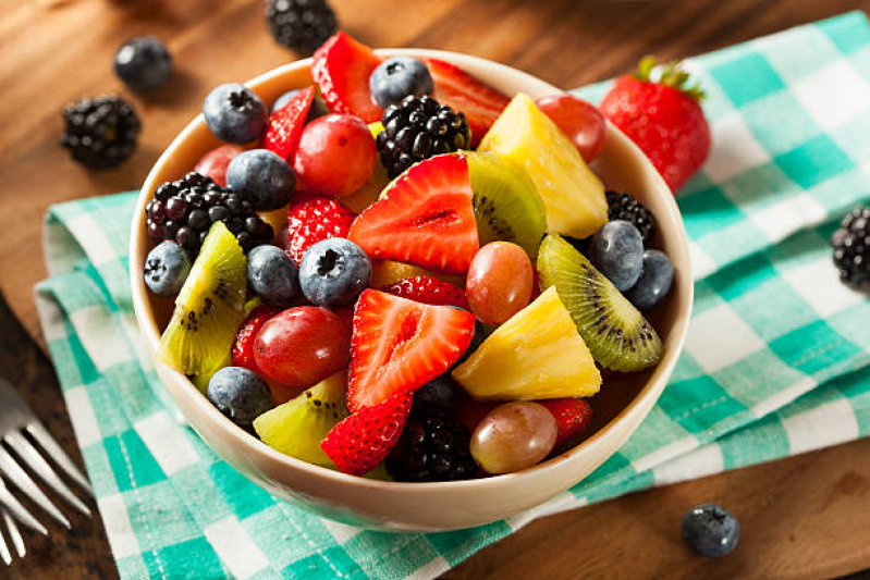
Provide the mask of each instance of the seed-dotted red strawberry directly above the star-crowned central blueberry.
POLYGON ((290 208, 286 251, 298 267, 308 248, 330 237, 347 237, 356 213, 329 197, 305 197, 290 208))

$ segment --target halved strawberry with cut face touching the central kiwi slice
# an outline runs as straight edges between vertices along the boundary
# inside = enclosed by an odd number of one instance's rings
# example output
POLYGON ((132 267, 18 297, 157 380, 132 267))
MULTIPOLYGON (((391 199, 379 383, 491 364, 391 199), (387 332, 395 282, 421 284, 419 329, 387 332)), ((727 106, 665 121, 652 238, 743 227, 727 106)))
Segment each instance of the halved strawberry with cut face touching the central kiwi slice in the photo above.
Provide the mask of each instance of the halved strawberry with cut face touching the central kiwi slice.
POLYGON ((480 249, 473 198, 462 153, 426 159, 354 221, 350 237, 375 260, 464 274, 480 249))

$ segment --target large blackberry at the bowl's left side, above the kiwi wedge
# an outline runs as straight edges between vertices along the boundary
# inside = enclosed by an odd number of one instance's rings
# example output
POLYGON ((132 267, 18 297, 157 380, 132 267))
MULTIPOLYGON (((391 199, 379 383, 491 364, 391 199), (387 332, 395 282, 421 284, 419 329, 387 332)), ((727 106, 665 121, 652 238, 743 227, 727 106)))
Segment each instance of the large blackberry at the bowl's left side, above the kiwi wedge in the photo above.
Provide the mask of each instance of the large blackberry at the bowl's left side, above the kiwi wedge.
POLYGON ((195 172, 160 185, 145 206, 145 215, 148 235, 156 244, 171 239, 192 257, 199 252, 215 222, 225 223, 245 252, 271 242, 274 235, 245 193, 221 187, 195 172))

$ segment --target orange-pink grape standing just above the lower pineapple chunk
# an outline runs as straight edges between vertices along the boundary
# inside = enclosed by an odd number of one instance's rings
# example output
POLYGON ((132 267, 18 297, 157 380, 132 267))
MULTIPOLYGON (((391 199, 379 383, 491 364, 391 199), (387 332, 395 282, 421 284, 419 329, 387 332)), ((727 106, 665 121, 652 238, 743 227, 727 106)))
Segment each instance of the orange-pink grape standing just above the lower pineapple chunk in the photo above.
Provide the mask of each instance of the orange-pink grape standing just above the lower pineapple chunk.
POLYGON ((526 251, 510 242, 492 242, 475 255, 465 283, 471 312, 499 325, 525 308, 535 282, 526 251))

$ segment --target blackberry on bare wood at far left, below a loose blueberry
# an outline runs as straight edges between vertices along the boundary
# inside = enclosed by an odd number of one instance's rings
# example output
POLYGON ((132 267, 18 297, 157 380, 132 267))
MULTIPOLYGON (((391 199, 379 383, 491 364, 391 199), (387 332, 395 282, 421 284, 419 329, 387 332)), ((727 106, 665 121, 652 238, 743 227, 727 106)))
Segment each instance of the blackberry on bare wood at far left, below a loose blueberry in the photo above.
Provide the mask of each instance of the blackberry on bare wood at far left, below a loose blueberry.
POLYGON ((142 125, 133 108, 115 95, 84 97, 63 110, 66 128, 60 144, 90 169, 114 168, 136 149, 142 125))

